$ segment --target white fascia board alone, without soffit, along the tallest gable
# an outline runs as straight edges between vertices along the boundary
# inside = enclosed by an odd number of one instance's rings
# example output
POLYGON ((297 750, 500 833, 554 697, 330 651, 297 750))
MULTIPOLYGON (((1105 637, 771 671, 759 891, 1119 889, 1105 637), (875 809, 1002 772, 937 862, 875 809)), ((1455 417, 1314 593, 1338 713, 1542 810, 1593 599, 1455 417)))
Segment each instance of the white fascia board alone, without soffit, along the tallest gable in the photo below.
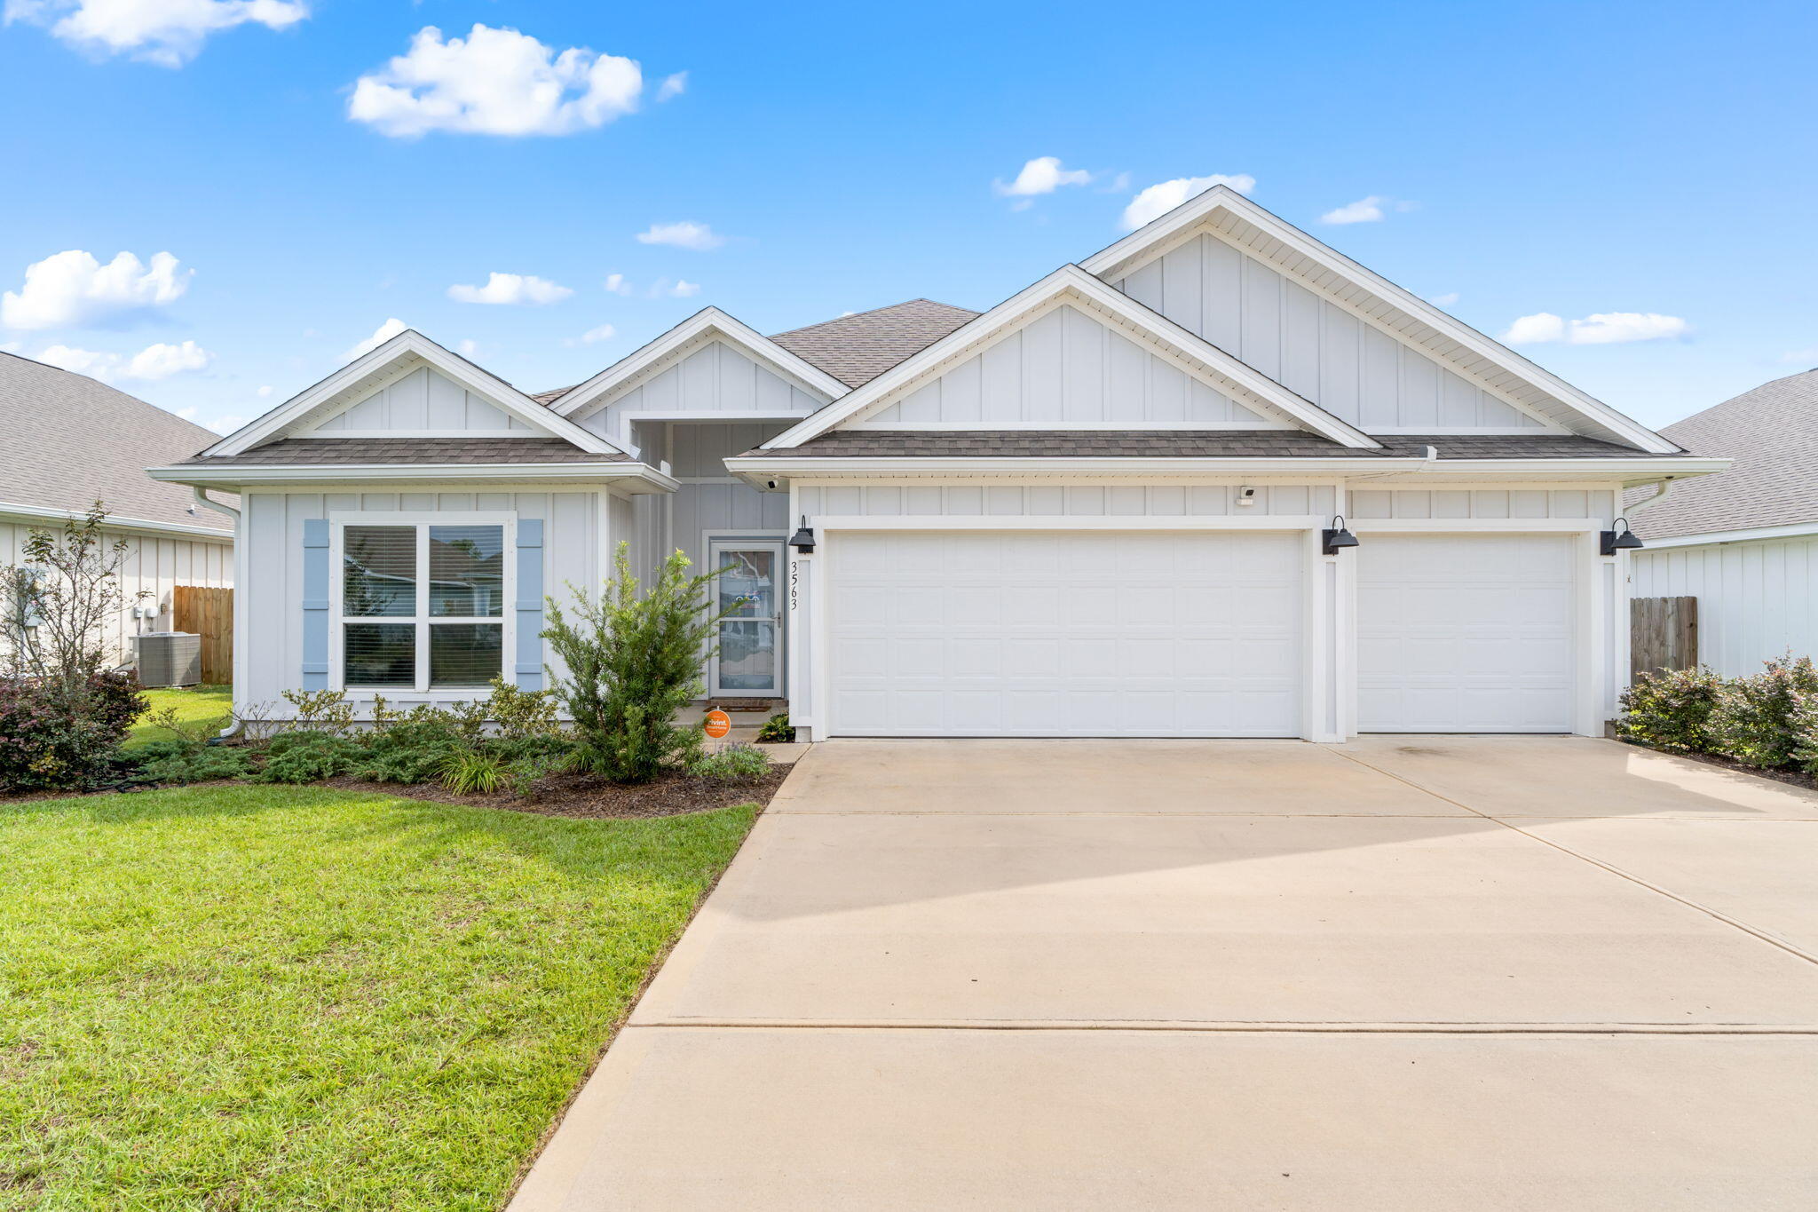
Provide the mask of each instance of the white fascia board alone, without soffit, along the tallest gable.
POLYGON ((1540 365, 1534 365, 1533 362, 1514 353, 1507 345, 1494 342, 1489 336, 1483 336, 1482 333, 1473 329, 1471 325, 1447 316, 1443 311, 1440 311, 1427 300, 1420 298, 1413 291, 1405 291, 1394 285, 1382 274, 1364 265, 1358 265, 1338 249, 1333 249, 1314 240, 1313 236, 1300 231, 1293 224, 1271 214, 1269 211, 1262 209, 1260 205, 1256 205, 1244 194, 1236 193, 1229 185, 1213 185, 1205 193, 1189 198, 1187 202, 1180 204, 1167 214, 1153 220, 1144 227, 1138 227, 1131 234, 1118 240, 1116 243, 1085 258, 1085 262, 1082 262, 1082 267, 1096 276, 1111 274, 1125 267, 1138 256, 1142 256, 1153 245, 1165 243, 1176 234, 1198 225, 1213 211, 1218 209, 1231 211, 1244 222, 1267 231, 1273 238, 1294 249, 1294 253, 1300 253, 1307 260, 1316 262, 1325 269, 1329 269, 1331 273, 1342 278, 1349 278, 1356 285, 1394 303, 1402 311, 1438 329, 1440 333, 1458 342, 1460 345, 1478 354, 1480 358, 1500 365, 1503 371, 1509 371, 1511 374, 1525 378, 1527 382, 1534 383, 1536 387, 1554 396, 1556 400, 1563 402, 1565 405, 1578 409, 1596 423, 1611 429, 1613 432, 1622 434, 1623 440, 1633 442, 1636 447, 1651 454, 1673 454, 1674 451, 1680 449, 1667 438, 1656 434, 1653 429, 1647 429, 1640 422, 1623 416, 1622 412, 1609 407, 1602 400, 1587 396, 1585 392, 1578 391, 1560 376, 1553 374, 1551 371, 1540 365))

